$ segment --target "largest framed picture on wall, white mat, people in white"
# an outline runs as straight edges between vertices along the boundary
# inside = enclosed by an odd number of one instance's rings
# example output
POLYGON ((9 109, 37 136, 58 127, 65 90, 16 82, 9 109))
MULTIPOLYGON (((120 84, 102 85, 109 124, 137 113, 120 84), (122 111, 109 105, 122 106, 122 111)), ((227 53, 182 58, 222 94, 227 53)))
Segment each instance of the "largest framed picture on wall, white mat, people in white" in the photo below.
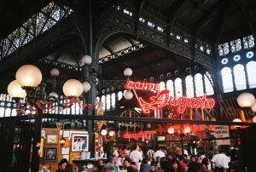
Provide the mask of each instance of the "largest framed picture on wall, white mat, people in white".
POLYGON ((89 135, 76 134, 72 135, 71 152, 89 151, 89 135))

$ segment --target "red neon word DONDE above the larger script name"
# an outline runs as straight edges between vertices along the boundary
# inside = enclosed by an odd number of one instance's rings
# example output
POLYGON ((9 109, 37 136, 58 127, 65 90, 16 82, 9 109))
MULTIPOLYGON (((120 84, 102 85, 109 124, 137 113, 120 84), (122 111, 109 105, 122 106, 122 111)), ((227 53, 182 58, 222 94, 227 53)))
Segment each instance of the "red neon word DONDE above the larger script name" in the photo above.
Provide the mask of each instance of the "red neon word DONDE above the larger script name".
POLYGON ((146 91, 159 91, 160 84, 159 83, 139 83, 128 81, 125 84, 125 89, 140 89, 146 91))

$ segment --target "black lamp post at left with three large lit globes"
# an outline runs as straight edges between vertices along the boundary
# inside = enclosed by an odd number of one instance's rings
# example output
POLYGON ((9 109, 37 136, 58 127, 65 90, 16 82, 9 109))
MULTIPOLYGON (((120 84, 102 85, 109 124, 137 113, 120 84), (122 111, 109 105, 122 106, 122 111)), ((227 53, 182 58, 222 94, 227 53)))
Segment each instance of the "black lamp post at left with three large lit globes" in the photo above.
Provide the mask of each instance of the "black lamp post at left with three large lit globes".
MULTIPOLYGON (((56 71, 55 71, 56 72, 56 71)), ((58 71, 57 71, 58 72, 58 71)), ((56 74, 56 73, 55 73, 56 74)), ((46 95, 42 73, 36 66, 21 66, 16 72, 16 80, 9 83, 8 93, 16 103, 20 104, 20 99, 26 99, 26 105, 36 108, 34 124, 34 137, 32 141, 32 172, 38 172, 39 156, 38 150, 41 144, 42 116, 45 105, 50 101, 57 102, 63 108, 60 101, 54 95, 46 95), (40 84, 41 83, 41 84, 40 84)), ((76 79, 70 79, 63 85, 64 95, 67 97, 79 97, 83 93, 83 85, 76 79)))

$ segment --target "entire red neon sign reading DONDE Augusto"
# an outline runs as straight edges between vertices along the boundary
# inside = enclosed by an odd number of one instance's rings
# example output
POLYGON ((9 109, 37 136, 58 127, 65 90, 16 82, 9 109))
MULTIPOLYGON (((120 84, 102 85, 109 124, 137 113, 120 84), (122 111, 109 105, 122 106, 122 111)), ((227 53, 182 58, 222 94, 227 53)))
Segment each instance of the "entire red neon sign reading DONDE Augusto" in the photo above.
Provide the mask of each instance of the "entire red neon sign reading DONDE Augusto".
POLYGON ((150 102, 143 100, 142 97, 137 97, 139 105, 142 108, 143 113, 150 113, 155 108, 161 108, 164 106, 177 106, 177 112, 183 113, 187 107, 212 109, 215 105, 214 99, 207 99, 207 95, 203 94, 202 97, 175 97, 170 95, 170 90, 164 89, 160 91, 160 84, 157 83, 139 83, 128 81, 125 85, 125 89, 133 90, 146 90, 156 91, 157 95, 149 98, 150 102))

